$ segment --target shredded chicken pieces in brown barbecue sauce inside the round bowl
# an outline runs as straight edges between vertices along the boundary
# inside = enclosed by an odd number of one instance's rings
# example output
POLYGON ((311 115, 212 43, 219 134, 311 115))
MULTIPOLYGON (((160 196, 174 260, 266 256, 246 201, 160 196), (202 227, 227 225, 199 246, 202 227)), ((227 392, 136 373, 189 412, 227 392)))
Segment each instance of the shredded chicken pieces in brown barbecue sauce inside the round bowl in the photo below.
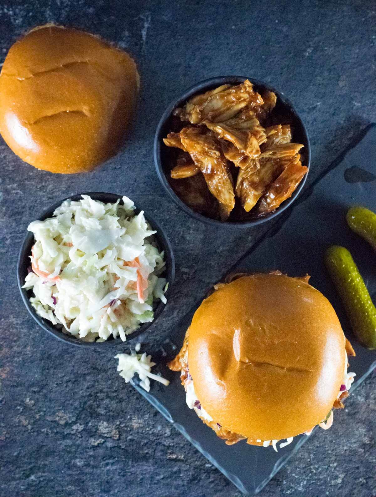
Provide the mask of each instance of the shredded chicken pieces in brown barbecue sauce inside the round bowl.
POLYGON ((291 142, 290 125, 268 126, 275 122, 276 103, 275 93, 259 94, 246 80, 196 95, 175 109, 180 131, 168 133, 163 142, 177 149, 171 178, 184 183, 172 186, 184 202, 186 179, 201 174, 217 201, 217 212, 211 206, 205 209, 204 202, 198 202, 198 212, 223 221, 230 216, 237 220, 238 203, 245 214, 263 216, 292 195, 308 168, 298 153, 303 145, 291 142), (191 157, 190 164, 179 164, 184 154, 191 157))

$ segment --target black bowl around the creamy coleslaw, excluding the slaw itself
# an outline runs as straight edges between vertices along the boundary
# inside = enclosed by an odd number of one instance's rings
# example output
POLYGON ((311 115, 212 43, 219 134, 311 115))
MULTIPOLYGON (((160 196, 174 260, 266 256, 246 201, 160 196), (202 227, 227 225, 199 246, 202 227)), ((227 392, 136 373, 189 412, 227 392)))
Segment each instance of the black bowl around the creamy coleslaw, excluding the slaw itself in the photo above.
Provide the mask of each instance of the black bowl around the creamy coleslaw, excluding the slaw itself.
MULTIPOLYGON (((89 192, 89 193, 83 193, 82 195, 90 195, 92 198, 95 200, 101 200, 102 202, 116 202, 118 198, 122 199, 122 195, 115 195, 113 193, 98 193, 98 192, 89 192)), ((64 200, 67 200, 68 198, 72 200, 80 200, 81 199, 81 194, 79 195, 71 195, 70 197, 64 198, 54 204, 52 207, 47 209, 43 214, 39 216, 39 220, 43 221, 44 219, 47 219, 49 217, 52 217, 54 210, 59 207, 64 200)), ((135 213, 138 214, 140 212, 139 207, 136 206, 135 213)), ((154 238, 156 240, 156 243, 158 244, 158 247, 162 250, 164 250, 164 256, 165 256, 165 261, 166 261, 166 270, 165 274, 163 276, 167 279, 168 281, 168 289, 166 291, 166 299, 168 301, 169 296, 171 295, 171 289, 172 285, 174 282, 175 278, 175 260, 174 260, 174 255, 172 253, 172 248, 170 245, 170 242, 168 238, 166 237, 163 229, 147 214, 145 213, 145 219, 146 221, 150 224, 153 230, 156 231, 156 234, 154 235, 154 238)), ((165 304, 162 302, 158 302, 156 306, 154 307, 154 320, 151 323, 144 323, 143 325, 140 326, 140 328, 137 331, 134 331, 133 333, 127 335, 126 341, 124 342, 119 336, 117 338, 109 338, 104 342, 84 342, 80 340, 79 338, 76 338, 75 336, 71 334, 64 333, 61 331, 60 328, 54 326, 52 323, 50 323, 48 320, 41 318, 38 316, 34 310, 34 308, 31 306, 29 298, 32 296, 32 290, 25 290, 24 288, 21 288, 22 285, 24 284, 25 277, 27 275, 27 268, 30 265, 30 259, 29 255, 31 254, 31 247, 34 243, 34 235, 30 232, 26 235, 22 245, 21 245, 21 250, 19 252, 18 256, 18 263, 17 263, 17 281, 18 281, 18 288, 19 291, 21 292, 21 297, 23 300, 23 303, 26 306, 26 309, 29 311, 31 316, 35 319, 35 321, 38 323, 38 325, 43 328, 43 330, 48 331, 52 335, 56 336, 56 338, 59 338, 60 340, 63 340, 65 342, 71 343, 72 345, 79 345, 82 347, 109 347, 109 346, 114 346, 114 345, 121 345, 121 344, 126 344, 128 343, 129 340, 132 340, 139 336, 141 333, 143 333, 145 330, 147 330, 158 318, 158 316, 162 313, 163 309, 165 308, 165 304)))

